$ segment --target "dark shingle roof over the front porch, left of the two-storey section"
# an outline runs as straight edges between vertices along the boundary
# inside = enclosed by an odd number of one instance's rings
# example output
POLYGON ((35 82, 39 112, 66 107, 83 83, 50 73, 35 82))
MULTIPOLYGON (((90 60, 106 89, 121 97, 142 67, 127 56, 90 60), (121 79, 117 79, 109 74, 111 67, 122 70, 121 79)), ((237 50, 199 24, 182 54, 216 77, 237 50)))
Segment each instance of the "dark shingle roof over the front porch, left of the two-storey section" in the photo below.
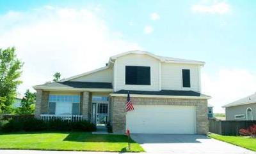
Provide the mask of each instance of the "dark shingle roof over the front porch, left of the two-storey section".
POLYGON ((62 87, 62 88, 112 88, 112 83, 107 82, 79 82, 79 81, 65 81, 52 82, 40 85, 42 87, 62 87))

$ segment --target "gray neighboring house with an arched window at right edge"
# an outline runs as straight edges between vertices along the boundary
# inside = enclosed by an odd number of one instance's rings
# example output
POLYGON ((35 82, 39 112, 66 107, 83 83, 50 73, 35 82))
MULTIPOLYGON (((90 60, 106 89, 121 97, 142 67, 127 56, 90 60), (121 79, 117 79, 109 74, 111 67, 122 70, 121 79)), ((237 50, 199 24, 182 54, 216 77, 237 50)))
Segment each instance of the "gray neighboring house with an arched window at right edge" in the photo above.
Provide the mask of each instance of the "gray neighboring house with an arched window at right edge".
POLYGON ((226 120, 256 120, 256 93, 223 106, 226 120))

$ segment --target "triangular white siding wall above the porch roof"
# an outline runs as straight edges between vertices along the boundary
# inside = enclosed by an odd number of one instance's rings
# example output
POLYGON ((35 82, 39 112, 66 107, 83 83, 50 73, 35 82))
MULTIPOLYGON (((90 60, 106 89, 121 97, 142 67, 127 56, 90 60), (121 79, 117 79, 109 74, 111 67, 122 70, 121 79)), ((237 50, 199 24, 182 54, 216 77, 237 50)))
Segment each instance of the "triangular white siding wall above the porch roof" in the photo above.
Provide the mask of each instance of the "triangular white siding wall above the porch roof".
POLYGON ((81 81, 81 82, 112 82, 113 80, 112 69, 104 69, 92 74, 87 74, 79 78, 75 78, 70 81, 81 81))

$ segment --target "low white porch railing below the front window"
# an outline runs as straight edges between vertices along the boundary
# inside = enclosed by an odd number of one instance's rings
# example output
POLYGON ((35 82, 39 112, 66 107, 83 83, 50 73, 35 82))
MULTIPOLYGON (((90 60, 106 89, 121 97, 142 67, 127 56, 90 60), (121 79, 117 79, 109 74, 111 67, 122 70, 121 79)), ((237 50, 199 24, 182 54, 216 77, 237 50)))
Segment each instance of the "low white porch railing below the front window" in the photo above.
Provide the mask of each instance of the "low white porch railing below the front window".
POLYGON ((49 120, 65 120, 68 122, 79 122, 83 120, 82 115, 40 115, 40 120, 49 121, 49 120))

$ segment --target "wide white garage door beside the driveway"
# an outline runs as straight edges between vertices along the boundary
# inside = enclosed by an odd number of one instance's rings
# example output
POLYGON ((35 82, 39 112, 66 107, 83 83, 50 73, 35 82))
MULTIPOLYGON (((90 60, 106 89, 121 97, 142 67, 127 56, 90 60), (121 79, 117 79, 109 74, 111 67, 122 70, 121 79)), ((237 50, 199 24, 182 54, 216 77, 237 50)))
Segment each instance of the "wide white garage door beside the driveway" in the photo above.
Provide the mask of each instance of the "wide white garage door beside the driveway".
POLYGON ((126 129, 138 134, 195 134, 195 106, 134 105, 126 129))

